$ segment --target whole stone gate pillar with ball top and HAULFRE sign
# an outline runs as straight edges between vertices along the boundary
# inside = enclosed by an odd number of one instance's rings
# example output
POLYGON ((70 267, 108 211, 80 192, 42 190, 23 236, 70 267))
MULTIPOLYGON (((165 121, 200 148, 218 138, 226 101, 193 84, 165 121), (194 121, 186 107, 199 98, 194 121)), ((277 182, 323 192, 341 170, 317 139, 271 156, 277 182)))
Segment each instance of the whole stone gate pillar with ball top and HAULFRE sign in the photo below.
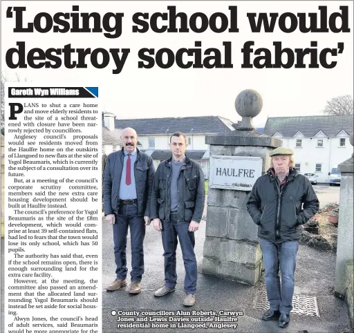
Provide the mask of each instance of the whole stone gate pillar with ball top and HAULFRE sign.
POLYGON ((205 137, 210 171, 203 273, 250 285, 259 280, 261 249, 246 202, 254 182, 270 167, 270 151, 282 145, 252 126, 262 106, 257 91, 242 91, 235 101, 242 117, 235 131, 205 137))

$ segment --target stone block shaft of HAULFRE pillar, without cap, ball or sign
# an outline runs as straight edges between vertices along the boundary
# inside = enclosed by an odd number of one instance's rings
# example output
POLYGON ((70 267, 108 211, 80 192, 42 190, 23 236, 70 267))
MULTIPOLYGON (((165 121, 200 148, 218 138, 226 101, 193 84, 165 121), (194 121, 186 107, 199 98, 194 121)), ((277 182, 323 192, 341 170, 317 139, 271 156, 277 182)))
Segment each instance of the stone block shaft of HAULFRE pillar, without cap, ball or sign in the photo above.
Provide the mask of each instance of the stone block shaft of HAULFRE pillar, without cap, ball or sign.
MULTIPOLYGON (((211 155, 254 156, 270 167, 272 148, 262 146, 210 146, 211 155)), ((257 225, 246 209, 249 191, 209 188, 203 273, 254 285, 262 268, 257 225)))

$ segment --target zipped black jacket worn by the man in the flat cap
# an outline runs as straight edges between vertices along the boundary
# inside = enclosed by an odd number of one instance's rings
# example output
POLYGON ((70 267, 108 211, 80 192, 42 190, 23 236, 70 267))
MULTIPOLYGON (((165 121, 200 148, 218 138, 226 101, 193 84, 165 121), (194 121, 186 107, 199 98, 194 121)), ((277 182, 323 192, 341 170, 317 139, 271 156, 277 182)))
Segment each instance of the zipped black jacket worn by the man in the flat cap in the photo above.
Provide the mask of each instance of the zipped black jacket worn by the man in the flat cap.
POLYGON ((276 177, 269 169, 257 179, 246 204, 248 213, 259 225, 259 237, 272 242, 298 240, 297 227, 317 213, 319 201, 308 179, 295 169, 290 169, 280 191, 276 177))

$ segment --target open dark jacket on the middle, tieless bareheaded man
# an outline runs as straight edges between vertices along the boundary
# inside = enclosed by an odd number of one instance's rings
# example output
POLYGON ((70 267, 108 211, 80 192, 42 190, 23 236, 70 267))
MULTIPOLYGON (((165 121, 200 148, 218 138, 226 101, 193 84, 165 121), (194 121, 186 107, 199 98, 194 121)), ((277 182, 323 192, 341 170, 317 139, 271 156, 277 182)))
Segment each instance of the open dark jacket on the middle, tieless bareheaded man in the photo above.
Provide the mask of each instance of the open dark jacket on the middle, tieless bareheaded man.
MULTIPOLYGON (((171 212, 171 158, 161 162, 153 179, 151 218, 169 222, 171 212)), ((201 222, 205 202, 204 173, 201 166, 185 156, 178 175, 178 222, 201 222)))

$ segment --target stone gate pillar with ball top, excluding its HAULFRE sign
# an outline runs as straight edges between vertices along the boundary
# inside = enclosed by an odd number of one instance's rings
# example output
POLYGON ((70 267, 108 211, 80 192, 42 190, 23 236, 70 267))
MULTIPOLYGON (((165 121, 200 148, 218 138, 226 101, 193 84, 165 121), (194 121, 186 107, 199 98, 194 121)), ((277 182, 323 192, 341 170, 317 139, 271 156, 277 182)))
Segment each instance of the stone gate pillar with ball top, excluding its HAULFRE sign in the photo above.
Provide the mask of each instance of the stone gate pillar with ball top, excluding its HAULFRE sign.
MULTIPOLYGON (((243 117, 233 133, 205 138, 210 155, 254 156, 263 160, 262 173, 270 167, 272 149, 281 140, 257 133, 252 118, 259 114, 262 99, 256 91, 243 91, 236 98, 236 111, 243 117)), ((250 191, 209 188, 207 226, 203 250, 203 273, 254 285, 261 274, 262 254, 257 225, 246 209, 250 191)))

